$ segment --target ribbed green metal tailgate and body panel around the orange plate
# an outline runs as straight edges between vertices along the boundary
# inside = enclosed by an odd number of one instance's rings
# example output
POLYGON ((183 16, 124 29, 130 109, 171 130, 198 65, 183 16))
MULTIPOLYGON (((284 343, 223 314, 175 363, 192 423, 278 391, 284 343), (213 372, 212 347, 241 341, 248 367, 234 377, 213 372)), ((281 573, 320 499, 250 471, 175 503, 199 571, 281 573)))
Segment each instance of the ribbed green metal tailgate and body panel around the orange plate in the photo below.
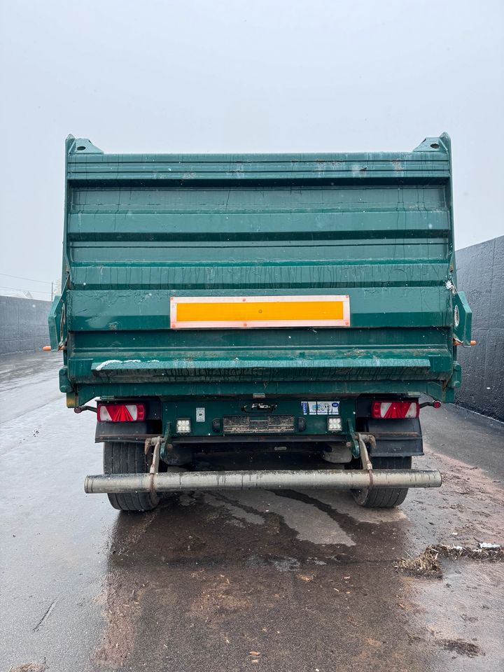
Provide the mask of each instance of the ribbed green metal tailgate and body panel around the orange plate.
MULTIPOLYGON (((66 141, 62 391, 451 400, 450 143, 409 153, 116 155, 66 141), (174 295, 348 294, 350 328, 172 330, 174 295)), ((469 317, 467 317, 469 316, 469 317)))

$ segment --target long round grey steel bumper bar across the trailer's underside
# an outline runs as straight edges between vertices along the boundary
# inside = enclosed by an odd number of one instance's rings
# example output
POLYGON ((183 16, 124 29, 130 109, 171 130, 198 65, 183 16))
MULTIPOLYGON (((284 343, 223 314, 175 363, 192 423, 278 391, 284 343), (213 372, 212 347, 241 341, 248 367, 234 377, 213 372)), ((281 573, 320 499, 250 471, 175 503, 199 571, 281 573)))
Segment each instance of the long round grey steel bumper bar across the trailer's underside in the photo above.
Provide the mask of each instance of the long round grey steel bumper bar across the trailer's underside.
POLYGON ((87 476, 87 493, 328 488, 438 488, 439 471, 411 469, 183 471, 87 476))

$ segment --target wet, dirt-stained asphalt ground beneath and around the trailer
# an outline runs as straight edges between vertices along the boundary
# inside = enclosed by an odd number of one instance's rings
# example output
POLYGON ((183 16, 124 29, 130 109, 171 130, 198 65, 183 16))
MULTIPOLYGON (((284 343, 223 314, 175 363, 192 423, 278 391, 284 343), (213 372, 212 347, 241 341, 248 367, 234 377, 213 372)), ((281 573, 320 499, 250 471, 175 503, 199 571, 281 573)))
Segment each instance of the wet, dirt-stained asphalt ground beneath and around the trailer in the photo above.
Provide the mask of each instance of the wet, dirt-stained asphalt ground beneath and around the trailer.
POLYGON ((0 672, 498 671, 504 565, 395 569, 430 543, 504 540, 504 426, 423 409, 437 490, 367 511, 346 493, 170 496, 119 514, 95 416, 66 409, 59 356, 0 359, 0 672), (36 666, 38 664, 38 666, 36 666))

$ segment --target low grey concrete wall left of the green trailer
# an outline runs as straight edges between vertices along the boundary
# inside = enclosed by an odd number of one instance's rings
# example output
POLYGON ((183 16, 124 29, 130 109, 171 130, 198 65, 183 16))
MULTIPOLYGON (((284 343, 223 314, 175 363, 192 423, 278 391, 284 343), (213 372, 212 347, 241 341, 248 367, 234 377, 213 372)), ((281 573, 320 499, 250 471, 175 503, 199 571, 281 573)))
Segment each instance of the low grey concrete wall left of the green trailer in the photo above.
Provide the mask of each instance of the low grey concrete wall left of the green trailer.
POLYGON ((0 296, 0 355, 48 345, 49 309, 50 301, 0 296))

